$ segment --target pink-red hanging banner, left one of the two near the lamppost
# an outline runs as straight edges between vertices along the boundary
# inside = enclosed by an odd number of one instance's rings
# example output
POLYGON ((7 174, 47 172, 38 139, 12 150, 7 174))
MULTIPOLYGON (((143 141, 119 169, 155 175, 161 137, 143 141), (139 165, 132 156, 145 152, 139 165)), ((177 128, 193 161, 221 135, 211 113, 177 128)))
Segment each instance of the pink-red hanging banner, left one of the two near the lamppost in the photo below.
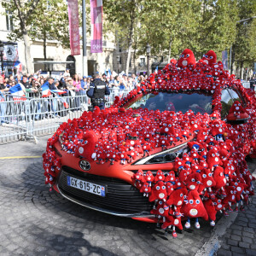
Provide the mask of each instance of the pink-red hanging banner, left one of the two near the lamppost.
POLYGON ((71 55, 80 55, 78 0, 67 0, 71 55))

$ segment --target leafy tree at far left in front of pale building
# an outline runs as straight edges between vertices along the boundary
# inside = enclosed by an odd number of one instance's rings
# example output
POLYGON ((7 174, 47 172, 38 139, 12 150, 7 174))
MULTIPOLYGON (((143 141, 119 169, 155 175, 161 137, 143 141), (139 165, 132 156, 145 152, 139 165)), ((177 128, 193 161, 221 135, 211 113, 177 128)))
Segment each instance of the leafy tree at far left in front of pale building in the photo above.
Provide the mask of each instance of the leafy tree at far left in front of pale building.
POLYGON ((64 47, 69 46, 67 4, 62 0, 27 0, 3 3, 14 17, 15 30, 9 33, 9 39, 23 39, 28 73, 33 73, 30 54, 30 38, 44 42, 46 59, 46 40, 57 39, 64 47))

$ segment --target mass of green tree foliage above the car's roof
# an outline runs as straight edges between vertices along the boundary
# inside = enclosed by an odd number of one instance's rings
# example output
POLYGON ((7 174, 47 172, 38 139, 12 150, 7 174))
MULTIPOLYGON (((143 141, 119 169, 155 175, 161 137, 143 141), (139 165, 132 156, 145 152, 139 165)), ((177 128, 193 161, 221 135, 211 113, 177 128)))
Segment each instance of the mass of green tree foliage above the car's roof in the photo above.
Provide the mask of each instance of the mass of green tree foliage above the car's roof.
POLYGON ((248 14, 240 10, 239 2, 248 0, 106 0, 103 9, 119 42, 127 46, 131 13, 136 6, 132 43, 138 55, 145 54, 149 43, 156 56, 167 55, 171 50, 172 56, 177 57, 183 49, 190 48, 200 59, 213 49, 220 59, 221 51, 230 49, 236 40, 239 13, 248 14))

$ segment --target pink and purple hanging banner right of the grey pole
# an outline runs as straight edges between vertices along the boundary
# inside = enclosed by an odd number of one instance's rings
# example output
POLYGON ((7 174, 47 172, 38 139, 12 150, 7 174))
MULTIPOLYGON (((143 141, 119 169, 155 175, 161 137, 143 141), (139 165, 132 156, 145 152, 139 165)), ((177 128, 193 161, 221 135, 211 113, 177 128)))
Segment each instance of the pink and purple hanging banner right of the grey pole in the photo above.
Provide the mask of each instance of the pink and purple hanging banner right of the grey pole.
POLYGON ((102 52, 102 0, 90 0, 90 52, 102 52))

